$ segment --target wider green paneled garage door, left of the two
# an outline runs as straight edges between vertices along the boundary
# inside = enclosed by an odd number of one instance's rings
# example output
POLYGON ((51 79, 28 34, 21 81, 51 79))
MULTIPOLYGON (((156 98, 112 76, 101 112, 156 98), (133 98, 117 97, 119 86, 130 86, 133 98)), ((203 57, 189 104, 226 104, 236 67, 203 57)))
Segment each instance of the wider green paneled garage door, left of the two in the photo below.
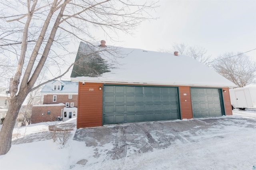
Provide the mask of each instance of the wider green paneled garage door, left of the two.
POLYGON ((103 124, 180 119, 178 88, 105 85, 103 124))

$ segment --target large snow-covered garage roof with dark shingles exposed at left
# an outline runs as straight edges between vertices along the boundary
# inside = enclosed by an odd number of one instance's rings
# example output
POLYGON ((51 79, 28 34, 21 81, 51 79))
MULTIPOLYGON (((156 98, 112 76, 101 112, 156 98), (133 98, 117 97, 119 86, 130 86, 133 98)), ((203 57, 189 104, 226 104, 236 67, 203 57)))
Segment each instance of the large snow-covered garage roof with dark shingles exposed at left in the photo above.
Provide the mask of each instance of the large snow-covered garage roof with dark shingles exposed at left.
POLYGON ((71 80, 122 84, 234 87, 192 57, 81 42, 71 80), (92 54, 94 53, 94 54, 92 54))

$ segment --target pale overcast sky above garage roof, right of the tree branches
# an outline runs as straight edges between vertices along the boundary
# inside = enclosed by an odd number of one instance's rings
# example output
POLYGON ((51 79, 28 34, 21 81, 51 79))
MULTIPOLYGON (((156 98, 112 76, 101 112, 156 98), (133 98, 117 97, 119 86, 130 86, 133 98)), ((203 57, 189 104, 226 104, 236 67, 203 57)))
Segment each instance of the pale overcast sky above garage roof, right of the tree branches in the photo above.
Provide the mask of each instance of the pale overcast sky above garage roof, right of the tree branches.
MULTIPOLYGON (((160 0, 152 15, 134 35, 119 34, 118 41, 106 44, 158 51, 174 43, 201 46, 212 58, 225 52, 256 49, 256 0, 160 0)), ((99 34, 100 35, 100 34, 99 34)), ((256 50, 246 53, 256 58, 256 50)))

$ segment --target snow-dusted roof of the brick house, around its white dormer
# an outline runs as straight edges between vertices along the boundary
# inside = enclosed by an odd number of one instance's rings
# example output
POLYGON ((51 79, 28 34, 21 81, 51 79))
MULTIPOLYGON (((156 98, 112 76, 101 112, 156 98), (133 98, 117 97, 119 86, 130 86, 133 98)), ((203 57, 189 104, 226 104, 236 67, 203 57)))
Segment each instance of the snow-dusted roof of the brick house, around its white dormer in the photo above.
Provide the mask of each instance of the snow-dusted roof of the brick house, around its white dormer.
POLYGON ((54 80, 52 82, 48 82, 44 85, 44 88, 41 90, 42 93, 78 93, 78 82, 72 82, 72 81, 62 81, 63 84, 62 90, 52 90, 52 83, 59 81, 54 80))

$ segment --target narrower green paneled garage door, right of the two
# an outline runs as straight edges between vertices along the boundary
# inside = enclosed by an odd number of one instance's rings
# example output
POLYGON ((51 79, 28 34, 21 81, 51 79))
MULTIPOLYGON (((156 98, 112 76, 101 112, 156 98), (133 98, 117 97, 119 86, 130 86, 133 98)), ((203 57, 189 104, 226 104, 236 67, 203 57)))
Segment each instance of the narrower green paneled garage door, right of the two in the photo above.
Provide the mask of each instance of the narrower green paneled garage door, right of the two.
POLYGON ((222 116, 220 89, 190 88, 193 117, 222 116))

